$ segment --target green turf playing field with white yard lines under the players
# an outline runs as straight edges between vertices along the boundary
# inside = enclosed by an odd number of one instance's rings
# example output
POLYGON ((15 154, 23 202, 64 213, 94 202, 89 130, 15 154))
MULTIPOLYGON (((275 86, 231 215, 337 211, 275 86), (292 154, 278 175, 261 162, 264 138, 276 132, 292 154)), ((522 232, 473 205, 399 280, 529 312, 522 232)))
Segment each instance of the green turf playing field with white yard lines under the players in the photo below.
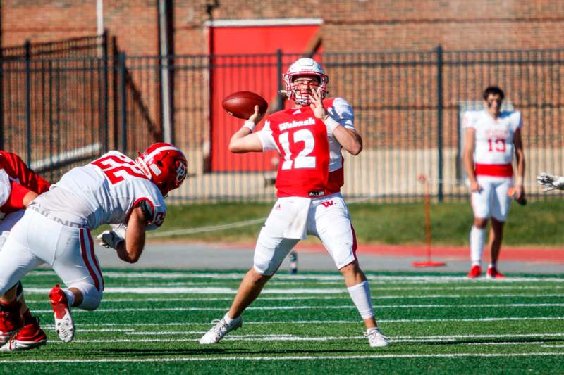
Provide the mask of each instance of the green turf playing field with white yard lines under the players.
POLYGON ((59 341, 51 271, 24 279, 49 341, 1 352, 2 374, 558 374, 564 369, 564 277, 504 281, 462 274, 367 274, 387 348, 370 348, 341 275, 281 272, 221 343, 197 339, 228 310, 243 272, 106 270, 97 311, 73 310, 59 341))

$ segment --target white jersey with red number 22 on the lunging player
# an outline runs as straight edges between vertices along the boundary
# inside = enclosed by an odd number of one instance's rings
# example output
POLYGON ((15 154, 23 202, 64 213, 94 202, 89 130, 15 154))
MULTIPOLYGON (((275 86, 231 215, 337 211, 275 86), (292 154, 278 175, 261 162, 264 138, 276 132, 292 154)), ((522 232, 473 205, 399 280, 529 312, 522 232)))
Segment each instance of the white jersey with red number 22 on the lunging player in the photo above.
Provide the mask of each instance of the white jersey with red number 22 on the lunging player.
POLYGON ((132 159, 110 151, 64 174, 30 208, 59 222, 94 229, 101 224, 126 223, 131 210, 142 201, 151 217, 147 229, 156 229, 166 214, 162 193, 132 159))

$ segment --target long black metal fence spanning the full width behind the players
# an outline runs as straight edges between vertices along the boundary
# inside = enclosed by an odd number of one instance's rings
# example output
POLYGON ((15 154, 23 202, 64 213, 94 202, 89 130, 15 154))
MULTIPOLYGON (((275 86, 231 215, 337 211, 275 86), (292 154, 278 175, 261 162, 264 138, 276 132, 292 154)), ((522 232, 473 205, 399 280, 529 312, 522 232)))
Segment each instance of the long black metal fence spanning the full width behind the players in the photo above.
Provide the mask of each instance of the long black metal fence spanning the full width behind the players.
MULTIPOLYGON (((279 51, 164 61, 128 57, 117 48, 107 53, 107 41, 102 45, 106 53, 99 56, 4 59, 4 148, 42 160, 51 170, 54 156, 65 153, 90 158, 89 150, 118 148, 133 155, 161 139, 161 113, 168 108, 173 141, 188 155, 190 168, 173 199, 274 197, 275 155, 228 153, 228 140, 242 121, 223 111, 221 99, 250 90, 271 108, 281 108, 276 95, 281 73, 299 55, 279 51), (171 82, 168 101, 162 94, 164 69, 171 82)), ((345 155, 343 191, 349 197, 410 201, 422 195, 417 176, 425 174, 434 197, 466 199, 460 118, 465 110, 482 108, 481 93, 489 84, 501 86, 507 108, 523 114, 527 191, 540 195, 534 176, 541 170, 564 174, 564 51, 439 47, 315 57, 329 74, 329 95, 353 106, 364 140, 360 155, 345 155)), ((56 177, 70 166, 62 163, 49 173, 56 177)))

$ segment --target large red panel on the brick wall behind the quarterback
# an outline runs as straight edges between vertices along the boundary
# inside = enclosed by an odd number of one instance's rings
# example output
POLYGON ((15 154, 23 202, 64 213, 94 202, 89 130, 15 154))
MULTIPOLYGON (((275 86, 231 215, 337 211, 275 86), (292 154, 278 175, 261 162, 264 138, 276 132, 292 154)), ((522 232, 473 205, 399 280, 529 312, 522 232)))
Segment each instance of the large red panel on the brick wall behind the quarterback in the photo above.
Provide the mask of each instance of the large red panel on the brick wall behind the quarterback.
MULTIPOLYGON (((303 53, 319 25, 282 25, 261 27, 211 27, 209 30, 212 61, 212 171, 275 170, 276 154, 233 154, 228 150, 231 135, 243 125, 243 120, 228 115, 221 107, 223 98, 235 91, 255 91, 271 103, 278 89, 276 50, 283 53, 303 53), (248 55, 255 56, 222 56, 248 55)), ((285 61, 285 72, 290 61, 285 61)), ((261 129, 264 121, 257 125, 261 129)))

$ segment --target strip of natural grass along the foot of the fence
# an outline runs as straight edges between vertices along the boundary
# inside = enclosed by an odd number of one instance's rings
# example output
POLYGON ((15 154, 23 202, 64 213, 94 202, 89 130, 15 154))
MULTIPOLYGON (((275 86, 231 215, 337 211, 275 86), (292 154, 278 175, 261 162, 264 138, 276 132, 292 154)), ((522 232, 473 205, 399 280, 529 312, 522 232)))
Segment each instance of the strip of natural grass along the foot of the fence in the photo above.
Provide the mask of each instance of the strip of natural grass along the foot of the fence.
MULTIPOLYGON (((154 234, 183 229, 202 229, 257 220, 255 224, 193 234, 171 234, 164 238, 190 241, 235 241, 254 243, 272 203, 193 203, 171 205, 166 220, 154 234)), ((424 244, 425 216, 423 203, 348 204, 360 243, 424 244)), ((504 245, 564 246, 564 199, 533 201, 526 206, 513 204, 505 225, 504 245)), ((431 205, 431 232, 435 245, 466 246, 472 226, 472 210, 467 201, 431 205)), ((104 228, 106 229, 106 228, 104 228)), ((99 229, 102 231, 103 229, 99 229)), ((173 232, 172 232, 173 233, 173 232)), ((149 239, 153 234, 149 234, 149 239)), ((317 241, 317 240, 312 240, 317 241)))

